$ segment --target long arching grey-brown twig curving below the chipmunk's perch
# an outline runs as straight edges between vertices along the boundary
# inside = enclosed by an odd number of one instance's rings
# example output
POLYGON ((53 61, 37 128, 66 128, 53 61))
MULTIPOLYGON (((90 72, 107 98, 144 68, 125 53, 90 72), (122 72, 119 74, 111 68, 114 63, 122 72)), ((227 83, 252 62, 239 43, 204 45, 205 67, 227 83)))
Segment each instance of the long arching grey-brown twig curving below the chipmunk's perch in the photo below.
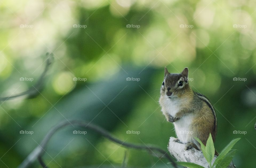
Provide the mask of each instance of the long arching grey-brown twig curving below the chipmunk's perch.
MULTIPOLYGON (((102 136, 106 137, 110 141, 113 141, 114 143, 120 144, 126 148, 133 148, 133 149, 142 149, 142 150, 147 150, 147 151, 157 151, 162 154, 162 157, 167 158, 172 165, 177 168, 176 163, 173 161, 173 159, 165 152, 163 149, 154 147, 152 145, 137 145, 137 144, 132 144, 132 143, 127 143, 123 142, 115 137, 113 137, 108 131, 104 130, 103 128, 96 126, 91 123, 79 121, 79 120, 71 120, 71 121, 65 121, 62 123, 57 124, 55 127, 53 127, 44 137, 42 140, 41 144, 38 145, 30 154, 27 156, 27 158, 18 166, 18 168, 27 168, 29 167, 39 156, 42 156, 47 143, 49 142, 50 138, 53 136, 55 132, 60 130, 61 128, 68 126, 68 125, 77 125, 79 127, 85 127, 89 128, 95 132, 100 133, 102 136)), ((43 165, 42 165, 43 166, 43 165)))

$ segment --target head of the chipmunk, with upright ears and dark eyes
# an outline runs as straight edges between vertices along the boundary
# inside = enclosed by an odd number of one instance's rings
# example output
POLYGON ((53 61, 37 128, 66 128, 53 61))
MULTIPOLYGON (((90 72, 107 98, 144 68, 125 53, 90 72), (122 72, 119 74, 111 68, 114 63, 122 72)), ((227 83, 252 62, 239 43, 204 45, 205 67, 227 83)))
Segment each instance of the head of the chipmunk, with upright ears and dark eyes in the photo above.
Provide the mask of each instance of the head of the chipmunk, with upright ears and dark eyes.
POLYGON ((188 68, 184 68, 180 74, 171 74, 165 67, 165 78, 161 86, 161 96, 168 98, 183 96, 186 89, 189 89, 188 74, 188 68))

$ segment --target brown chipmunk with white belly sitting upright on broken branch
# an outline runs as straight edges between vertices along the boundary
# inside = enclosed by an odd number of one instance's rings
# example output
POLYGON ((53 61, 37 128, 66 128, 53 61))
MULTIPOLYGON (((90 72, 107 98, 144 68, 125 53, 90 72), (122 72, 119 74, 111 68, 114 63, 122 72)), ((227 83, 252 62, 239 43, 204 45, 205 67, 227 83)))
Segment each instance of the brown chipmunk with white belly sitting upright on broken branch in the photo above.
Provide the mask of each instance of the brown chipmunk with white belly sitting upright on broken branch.
MULTIPOLYGON (((186 144, 185 150, 192 147, 201 150, 194 137, 206 145, 211 133, 215 141, 217 119, 208 98, 190 88, 188 73, 188 68, 184 68, 180 74, 171 74, 165 67, 159 103, 167 121, 174 124, 178 138, 173 141, 186 144)), ((217 151, 215 154, 218 155, 217 151)))

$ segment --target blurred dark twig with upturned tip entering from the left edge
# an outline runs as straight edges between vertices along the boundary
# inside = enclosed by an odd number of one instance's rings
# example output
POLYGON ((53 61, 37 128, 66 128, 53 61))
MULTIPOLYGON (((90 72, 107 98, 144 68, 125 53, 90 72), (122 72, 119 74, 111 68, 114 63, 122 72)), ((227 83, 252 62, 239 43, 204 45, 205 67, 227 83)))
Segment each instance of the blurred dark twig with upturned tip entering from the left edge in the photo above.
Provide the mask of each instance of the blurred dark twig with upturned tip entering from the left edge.
POLYGON ((24 95, 28 95, 29 98, 37 96, 39 94, 38 91, 42 90, 42 88, 43 88, 46 72, 48 71, 50 64, 53 62, 52 54, 47 53, 46 56, 48 56, 48 58, 46 60, 45 69, 44 69, 43 73, 41 74, 41 76, 39 77, 37 83, 34 86, 30 87, 28 90, 26 90, 24 92, 21 92, 19 94, 13 95, 13 96, 0 97, 0 101, 6 101, 6 100, 14 99, 17 97, 21 97, 24 95))

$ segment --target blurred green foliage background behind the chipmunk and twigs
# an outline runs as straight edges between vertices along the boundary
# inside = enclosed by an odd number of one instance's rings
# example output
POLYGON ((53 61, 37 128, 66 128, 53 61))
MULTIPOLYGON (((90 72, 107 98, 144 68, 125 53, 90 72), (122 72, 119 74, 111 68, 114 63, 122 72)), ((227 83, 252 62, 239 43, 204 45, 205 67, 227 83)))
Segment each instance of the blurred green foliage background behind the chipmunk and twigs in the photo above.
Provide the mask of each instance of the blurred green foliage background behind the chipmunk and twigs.
MULTIPOLYGON (((91 121, 123 141, 166 149, 175 132, 158 104, 165 66, 173 73, 189 68, 190 86, 216 109, 215 148, 240 137, 234 163, 253 167, 255 3, 1 1, 1 96, 33 86, 46 52, 53 53, 55 61, 37 97, 1 102, 0 167, 17 167, 52 126, 74 118, 91 121), (129 130, 140 133, 127 134, 129 130)), ((74 130, 79 128, 65 128, 51 139, 43 156, 50 168, 120 166, 125 151, 128 167, 166 167, 165 159, 122 148, 90 130, 86 135, 74 130)))

